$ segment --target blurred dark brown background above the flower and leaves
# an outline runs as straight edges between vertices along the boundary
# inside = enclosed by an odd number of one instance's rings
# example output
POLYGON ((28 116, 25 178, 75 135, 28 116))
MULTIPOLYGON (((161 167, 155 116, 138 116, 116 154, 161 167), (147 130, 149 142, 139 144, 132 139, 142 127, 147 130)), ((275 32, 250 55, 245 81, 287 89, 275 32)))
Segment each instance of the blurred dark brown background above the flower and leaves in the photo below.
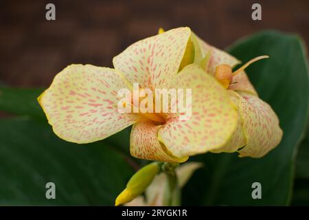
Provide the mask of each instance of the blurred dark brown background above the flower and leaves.
POLYGON ((71 63, 112 66, 131 43, 165 30, 189 26, 224 48, 263 29, 297 32, 309 42, 309 1, 0 1, 0 82, 46 87, 71 63), (56 21, 45 5, 56 5, 56 21), (262 5, 262 21, 251 5, 262 5))

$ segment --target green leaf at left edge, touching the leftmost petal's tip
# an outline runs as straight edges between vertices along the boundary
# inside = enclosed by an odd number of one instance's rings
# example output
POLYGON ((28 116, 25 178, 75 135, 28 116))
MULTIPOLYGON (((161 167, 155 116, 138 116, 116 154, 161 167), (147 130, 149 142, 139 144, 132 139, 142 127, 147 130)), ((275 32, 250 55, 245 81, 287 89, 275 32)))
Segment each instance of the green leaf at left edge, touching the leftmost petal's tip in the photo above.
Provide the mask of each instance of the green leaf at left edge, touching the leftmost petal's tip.
POLYGON ((42 92, 43 89, 0 87, 0 110, 43 119, 45 115, 36 100, 42 92))

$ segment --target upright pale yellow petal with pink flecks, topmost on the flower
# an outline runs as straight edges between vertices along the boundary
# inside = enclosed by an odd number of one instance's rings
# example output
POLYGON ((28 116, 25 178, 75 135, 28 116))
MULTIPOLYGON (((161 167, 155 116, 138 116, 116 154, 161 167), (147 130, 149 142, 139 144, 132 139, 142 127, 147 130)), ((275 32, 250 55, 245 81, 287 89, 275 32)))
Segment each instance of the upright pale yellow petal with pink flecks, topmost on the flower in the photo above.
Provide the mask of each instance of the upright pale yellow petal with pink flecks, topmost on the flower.
POLYGON ((133 43, 113 58, 114 67, 142 88, 167 87, 178 72, 190 34, 190 28, 176 28, 133 43))

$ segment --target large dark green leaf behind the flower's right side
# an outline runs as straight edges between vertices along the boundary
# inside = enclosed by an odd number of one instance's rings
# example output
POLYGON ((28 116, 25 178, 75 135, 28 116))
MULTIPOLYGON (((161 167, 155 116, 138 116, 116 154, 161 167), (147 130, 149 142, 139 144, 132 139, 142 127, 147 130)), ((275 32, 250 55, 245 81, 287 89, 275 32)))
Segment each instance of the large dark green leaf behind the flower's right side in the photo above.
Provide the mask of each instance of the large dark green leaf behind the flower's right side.
POLYGON ((193 157, 204 162, 184 188, 184 205, 288 205, 297 146, 308 117, 308 67, 304 45, 298 36, 260 32, 242 39, 229 52, 243 63, 260 55, 266 61, 247 69, 249 78, 277 113, 284 131, 275 150, 260 158, 239 158, 237 153, 193 157), (262 199, 253 199, 254 182, 262 184, 262 199))

